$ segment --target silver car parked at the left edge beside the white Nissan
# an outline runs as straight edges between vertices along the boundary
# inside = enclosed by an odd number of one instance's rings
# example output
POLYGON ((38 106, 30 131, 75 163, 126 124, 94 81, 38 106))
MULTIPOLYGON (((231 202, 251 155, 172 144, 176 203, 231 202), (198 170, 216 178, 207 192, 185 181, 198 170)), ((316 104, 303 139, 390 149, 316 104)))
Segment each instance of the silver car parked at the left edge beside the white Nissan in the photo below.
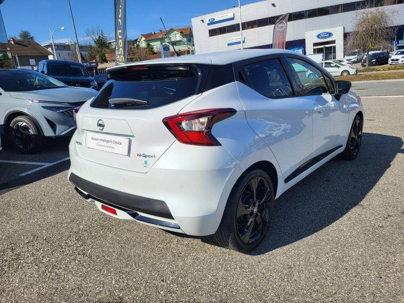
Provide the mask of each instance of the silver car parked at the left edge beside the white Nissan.
POLYGON ((44 138, 72 135, 74 108, 96 93, 31 70, 0 70, 0 133, 21 153, 35 153, 44 138))

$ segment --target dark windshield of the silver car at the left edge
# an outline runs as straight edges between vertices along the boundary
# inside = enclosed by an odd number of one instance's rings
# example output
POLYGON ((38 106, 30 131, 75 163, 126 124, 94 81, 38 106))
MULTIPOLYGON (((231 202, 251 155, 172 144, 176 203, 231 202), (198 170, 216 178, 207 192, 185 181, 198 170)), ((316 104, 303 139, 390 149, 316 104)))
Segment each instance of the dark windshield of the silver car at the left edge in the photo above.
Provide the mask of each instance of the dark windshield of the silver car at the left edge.
POLYGON ((5 91, 28 91, 67 86, 38 72, 16 69, 0 71, 0 87, 5 91))

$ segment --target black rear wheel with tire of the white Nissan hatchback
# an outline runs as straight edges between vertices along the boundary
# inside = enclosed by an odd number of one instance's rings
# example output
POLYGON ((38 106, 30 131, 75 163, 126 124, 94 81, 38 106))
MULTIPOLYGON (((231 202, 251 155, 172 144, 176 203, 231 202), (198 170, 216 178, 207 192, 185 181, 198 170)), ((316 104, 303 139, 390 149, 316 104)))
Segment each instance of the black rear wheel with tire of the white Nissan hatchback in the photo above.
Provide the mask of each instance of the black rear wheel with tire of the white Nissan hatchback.
POLYGON ((248 252, 269 229, 274 211, 274 189, 268 174, 254 169, 234 185, 227 200, 216 241, 227 248, 248 252))

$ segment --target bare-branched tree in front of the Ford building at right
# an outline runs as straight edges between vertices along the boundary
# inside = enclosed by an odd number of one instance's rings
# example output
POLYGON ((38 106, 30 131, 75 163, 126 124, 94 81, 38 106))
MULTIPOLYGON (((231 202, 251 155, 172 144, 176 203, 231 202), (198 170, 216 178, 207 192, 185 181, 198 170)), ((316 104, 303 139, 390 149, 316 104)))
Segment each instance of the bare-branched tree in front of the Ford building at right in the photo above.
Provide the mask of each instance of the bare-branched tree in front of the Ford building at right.
POLYGON ((366 52, 366 67, 369 66, 369 51, 371 49, 390 48, 393 36, 393 12, 379 8, 363 9, 356 12, 354 31, 347 37, 348 51, 361 49, 366 52))

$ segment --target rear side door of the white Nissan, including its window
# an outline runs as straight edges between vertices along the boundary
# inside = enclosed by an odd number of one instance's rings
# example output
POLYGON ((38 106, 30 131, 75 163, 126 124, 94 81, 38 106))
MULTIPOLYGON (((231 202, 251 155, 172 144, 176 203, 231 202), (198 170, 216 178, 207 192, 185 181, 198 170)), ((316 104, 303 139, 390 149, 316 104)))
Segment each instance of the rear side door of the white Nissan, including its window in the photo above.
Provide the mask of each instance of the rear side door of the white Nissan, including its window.
POLYGON ((288 182, 312 155, 313 100, 296 94, 283 59, 257 60, 234 65, 237 91, 249 126, 272 150, 288 182))

